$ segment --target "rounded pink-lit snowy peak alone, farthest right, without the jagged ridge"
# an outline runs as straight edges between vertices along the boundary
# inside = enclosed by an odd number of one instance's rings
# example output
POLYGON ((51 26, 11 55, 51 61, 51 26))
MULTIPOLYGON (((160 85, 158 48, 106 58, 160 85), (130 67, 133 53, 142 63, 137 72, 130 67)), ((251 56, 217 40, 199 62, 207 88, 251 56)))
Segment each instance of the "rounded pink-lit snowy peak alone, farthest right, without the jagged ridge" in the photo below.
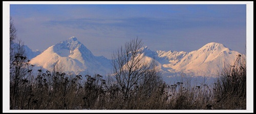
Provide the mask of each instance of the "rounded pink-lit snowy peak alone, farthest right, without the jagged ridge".
POLYGON ((217 76, 224 64, 232 63, 240 53, 229 50, 221 43, 207 43, 197 51, 189 52, 176 66, 178 72, 200 76, 217 76))

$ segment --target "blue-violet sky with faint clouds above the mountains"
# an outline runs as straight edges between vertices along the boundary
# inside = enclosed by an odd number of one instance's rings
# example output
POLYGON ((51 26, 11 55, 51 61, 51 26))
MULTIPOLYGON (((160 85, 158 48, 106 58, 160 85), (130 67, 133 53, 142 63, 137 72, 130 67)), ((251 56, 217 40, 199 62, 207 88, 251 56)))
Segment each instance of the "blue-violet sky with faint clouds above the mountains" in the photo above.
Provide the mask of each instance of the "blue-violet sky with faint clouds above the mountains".
POLYGON ((245 53, 245 4, 11 4, 17 36, 43 51, 75 36, 95 56, 111 59, 139 37, 153 51, 194 51, 209 42, 245 53))

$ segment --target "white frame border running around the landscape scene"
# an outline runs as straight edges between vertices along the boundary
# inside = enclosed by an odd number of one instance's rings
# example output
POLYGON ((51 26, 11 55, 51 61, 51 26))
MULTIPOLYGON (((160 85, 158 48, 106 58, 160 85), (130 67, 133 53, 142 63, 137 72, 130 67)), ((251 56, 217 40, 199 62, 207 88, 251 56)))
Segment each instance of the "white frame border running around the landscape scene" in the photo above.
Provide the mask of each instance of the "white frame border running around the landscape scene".
POLYGON ((253 2, 3 2, 3 112, 253 112, 253 2), (247 109, 246 110, 10 110, 9 16, 10 4, 246 4, 247 109), (8 37, 8 38, 7 38, 8 37), (6 47, 6 48, 4 48, 6 47), (6 58, 7 57, 7 58, 6 58))

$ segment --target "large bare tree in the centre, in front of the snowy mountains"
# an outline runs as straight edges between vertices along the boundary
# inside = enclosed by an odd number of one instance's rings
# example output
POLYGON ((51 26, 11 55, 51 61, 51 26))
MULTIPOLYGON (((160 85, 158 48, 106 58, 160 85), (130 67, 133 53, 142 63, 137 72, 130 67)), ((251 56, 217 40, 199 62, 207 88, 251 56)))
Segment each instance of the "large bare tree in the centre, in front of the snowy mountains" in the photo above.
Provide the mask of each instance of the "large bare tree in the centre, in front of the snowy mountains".
MULTIPOLYGON (((131 92, 145 80, 152 64, 147 63, 142 50, 142 41, 138 38, 126 42, 124 47, 120 47, 112 55, 113 81, 116 83, 123 94, 124 99, 131 97, 131 92)), ((153 70, 155 72, 155 70, 153 70)), ((154 73, 153 73, 154 74, 154 73)))

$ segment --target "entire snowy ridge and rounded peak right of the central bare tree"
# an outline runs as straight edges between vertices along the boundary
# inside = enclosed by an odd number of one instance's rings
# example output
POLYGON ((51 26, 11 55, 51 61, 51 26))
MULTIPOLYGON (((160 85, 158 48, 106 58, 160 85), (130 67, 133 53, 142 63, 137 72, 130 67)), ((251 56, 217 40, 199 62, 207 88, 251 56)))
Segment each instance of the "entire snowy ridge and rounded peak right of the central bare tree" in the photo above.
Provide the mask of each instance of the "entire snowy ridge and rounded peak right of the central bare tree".
POLYGON ((190 76, 217 76, 224 62, 233 64, 237 55, 240 54, 216 42, 207 43, 199 50, 192 52, 157 51, 155 53, 148 48, 144 51, 147 57, 155 58, 161 64, 165 76, 177 73, 190 76))

